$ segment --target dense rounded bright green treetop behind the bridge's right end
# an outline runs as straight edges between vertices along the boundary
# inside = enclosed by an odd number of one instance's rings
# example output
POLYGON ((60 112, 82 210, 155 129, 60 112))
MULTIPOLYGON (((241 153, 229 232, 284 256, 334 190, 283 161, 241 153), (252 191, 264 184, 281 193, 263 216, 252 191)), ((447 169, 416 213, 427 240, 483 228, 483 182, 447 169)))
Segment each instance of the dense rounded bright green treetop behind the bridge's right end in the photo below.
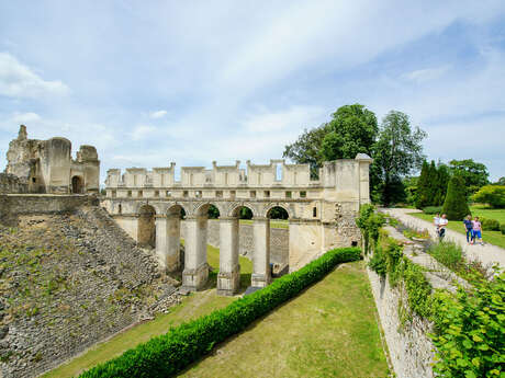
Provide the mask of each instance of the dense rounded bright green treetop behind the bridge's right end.
POLYGON ((372 154, 379 131, 373 112, 354 104, 340 106, 332 116, 322 144, 324 160, 355 159, 359 152, 372 154))

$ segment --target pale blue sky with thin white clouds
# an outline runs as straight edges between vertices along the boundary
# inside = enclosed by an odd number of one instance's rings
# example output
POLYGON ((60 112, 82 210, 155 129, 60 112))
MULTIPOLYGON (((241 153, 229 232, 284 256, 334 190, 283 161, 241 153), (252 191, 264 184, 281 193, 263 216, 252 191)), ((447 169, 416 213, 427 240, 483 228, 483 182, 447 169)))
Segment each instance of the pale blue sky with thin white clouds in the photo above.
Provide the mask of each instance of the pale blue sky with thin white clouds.
POLYGON ((505 2, 0 0, 0 169, 29 137, 108 169, 267 163, 360 103, 505 176, 505 2))

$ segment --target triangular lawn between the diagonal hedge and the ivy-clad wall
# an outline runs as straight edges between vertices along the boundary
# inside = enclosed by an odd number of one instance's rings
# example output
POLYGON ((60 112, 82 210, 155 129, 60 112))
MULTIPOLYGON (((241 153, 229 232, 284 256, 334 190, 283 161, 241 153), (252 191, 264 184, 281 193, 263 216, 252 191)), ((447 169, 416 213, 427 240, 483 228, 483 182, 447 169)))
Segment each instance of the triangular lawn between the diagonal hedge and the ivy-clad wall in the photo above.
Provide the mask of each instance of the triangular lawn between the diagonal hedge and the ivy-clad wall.
POLYGON ((386 377, 363 266, 341 265, 180 377, 386 377))

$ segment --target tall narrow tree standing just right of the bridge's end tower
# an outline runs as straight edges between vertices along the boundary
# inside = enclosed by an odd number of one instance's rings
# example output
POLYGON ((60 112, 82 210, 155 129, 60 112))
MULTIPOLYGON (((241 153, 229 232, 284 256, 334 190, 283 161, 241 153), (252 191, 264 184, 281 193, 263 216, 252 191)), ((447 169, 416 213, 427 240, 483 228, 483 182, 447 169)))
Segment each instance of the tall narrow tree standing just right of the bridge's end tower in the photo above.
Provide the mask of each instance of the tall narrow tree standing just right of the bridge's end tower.
POLYGON ((373 164, 382 182, 382 203, 388 206, 405 198, 402 177, 422 168, 426 133, 414 129, 405 113, 391 111, 382 119, 379 140, 373 146, 373 164), (403 193, 402 193, 403 192, 403 193))

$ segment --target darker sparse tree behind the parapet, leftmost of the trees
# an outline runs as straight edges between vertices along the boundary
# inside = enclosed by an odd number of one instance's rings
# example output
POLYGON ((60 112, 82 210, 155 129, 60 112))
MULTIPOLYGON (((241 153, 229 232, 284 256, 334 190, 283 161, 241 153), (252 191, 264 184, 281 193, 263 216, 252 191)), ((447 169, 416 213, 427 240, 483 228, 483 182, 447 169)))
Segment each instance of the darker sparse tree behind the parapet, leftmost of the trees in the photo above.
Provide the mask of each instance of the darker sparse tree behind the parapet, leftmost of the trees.
POLYGON ((328 134, 329 127, 323 124, 313 129, 304 129, 303 134, 291 145, 285 146, 282 157, 289 158, 299 164, 311 165, 311 176, 317 177, 317 169, 322 165, 323 139, 328 134))

